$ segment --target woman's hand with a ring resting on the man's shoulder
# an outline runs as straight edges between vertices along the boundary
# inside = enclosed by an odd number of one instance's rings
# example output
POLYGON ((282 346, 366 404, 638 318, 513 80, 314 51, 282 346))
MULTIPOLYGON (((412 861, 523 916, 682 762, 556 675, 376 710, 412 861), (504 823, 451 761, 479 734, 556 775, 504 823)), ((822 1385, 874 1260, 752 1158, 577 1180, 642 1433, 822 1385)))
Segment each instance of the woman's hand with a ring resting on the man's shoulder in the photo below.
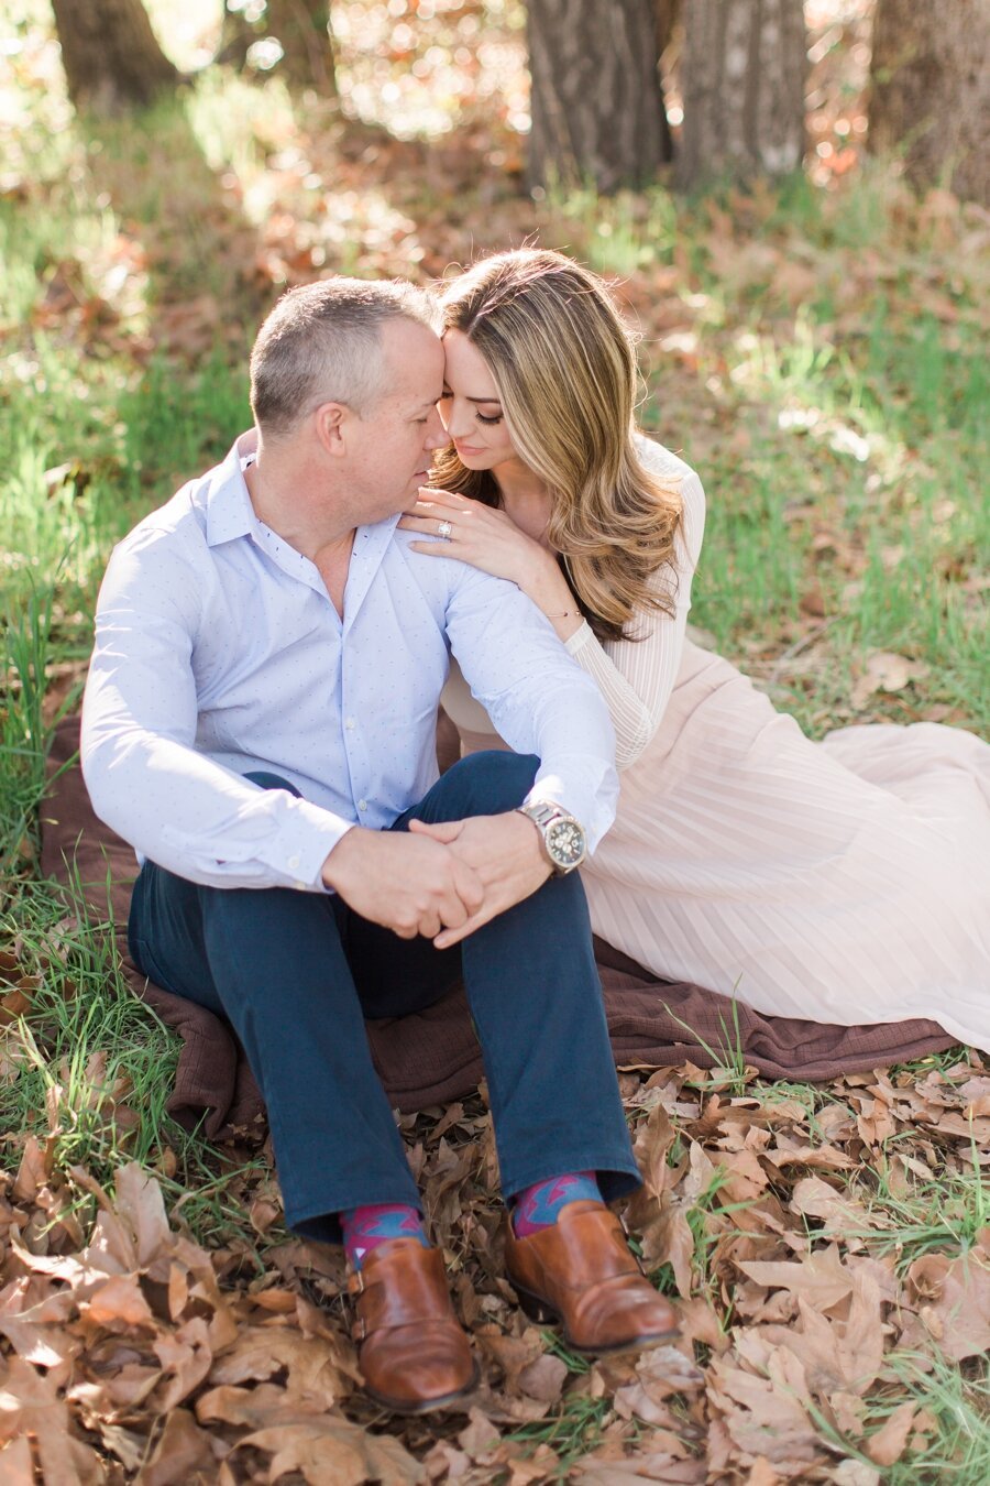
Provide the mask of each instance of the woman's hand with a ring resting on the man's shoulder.
POLYGON ((420 487, 420 498, 399 522, 407 532, 423 532, 430 541, 411 542, 413 551, 429 557, 457 557, 493 578, 508 578, 534 597, 557 560, 551 551, 519 531, 512 517, 481 501, 451 490, 420 487), (439 531, 441 523, 444 525, 439 531), (450 526, 450 531, 447 529, 450 526), (436 538, 441 538, 436 541, 436 538), (444 536, 447 538, 444 541, 444 536))

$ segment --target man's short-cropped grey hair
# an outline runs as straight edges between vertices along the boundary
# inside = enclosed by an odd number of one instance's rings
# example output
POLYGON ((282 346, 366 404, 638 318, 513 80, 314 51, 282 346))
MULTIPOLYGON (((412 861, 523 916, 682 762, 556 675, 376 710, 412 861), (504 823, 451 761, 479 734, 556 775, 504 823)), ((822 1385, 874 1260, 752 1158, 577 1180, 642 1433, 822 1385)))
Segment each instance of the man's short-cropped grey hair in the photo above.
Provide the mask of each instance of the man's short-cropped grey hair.
POLYGON ((331 278, 291 288, 251 351, 251 410, 263 434, 286 434, 321 403, 359 418, 381 395, 381 327, 411 319, 435 328, 424 290, 404 279, 331 278))

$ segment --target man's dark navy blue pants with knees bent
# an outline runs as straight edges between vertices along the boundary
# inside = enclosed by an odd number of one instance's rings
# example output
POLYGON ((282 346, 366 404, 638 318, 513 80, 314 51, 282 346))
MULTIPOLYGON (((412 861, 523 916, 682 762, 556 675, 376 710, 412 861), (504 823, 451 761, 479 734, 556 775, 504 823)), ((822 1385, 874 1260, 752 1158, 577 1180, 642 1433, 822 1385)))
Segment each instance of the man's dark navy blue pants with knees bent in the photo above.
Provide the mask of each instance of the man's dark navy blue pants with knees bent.
MULTIPOLYGON (((534 758, 471 755, 392 829, 512 810, 534 770, 534 758)), ((567 1171, 597 1171, 607 1199, 640 1184, 576 872, 441 951, 337 895, 200 887, 147 862, 129 941, 144 975, 232 1024, 267 1106, 286 1221, 309 1238, 335 1239, 337 1213, 359 1204, 420 1207, 364 1019, 422 1010, 462 973, 503 1193, 567 1171)))

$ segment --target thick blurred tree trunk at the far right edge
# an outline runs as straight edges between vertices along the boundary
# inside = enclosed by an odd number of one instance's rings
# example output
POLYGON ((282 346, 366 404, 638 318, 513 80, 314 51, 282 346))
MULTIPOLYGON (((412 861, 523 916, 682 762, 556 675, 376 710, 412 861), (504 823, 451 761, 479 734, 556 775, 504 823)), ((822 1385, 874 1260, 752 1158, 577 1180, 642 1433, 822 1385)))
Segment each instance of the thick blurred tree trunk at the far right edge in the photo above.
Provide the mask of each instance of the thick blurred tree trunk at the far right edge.
POLYGON ((990 0, 877 0, 870 149, 990 205, 990 0))

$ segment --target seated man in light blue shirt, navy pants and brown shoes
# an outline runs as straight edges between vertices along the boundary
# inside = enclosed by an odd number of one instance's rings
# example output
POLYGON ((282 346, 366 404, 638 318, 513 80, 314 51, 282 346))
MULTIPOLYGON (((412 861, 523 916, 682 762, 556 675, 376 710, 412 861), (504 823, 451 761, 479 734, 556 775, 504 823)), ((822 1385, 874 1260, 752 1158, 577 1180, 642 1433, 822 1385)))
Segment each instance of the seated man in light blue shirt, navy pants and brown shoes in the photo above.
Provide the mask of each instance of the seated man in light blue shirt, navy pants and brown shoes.
POLYGON ((612 728, 514 585, 396 531, 442 376, 410 285, 286 294, 251 358, 257 458, 236 444, 114 551, 83 709, 94 807, 144 857, 134 958, 233 1024, 286 1221, 343 1233, 365 1382, 399 1412, 476 1370, 364 1018, 462 972, 519 1299, 589 1352, 672 1331, 603 1202, 638 1174, 571 868, 612 822, 612 728), (517 753, 438 780, 448 646, 517 753))

